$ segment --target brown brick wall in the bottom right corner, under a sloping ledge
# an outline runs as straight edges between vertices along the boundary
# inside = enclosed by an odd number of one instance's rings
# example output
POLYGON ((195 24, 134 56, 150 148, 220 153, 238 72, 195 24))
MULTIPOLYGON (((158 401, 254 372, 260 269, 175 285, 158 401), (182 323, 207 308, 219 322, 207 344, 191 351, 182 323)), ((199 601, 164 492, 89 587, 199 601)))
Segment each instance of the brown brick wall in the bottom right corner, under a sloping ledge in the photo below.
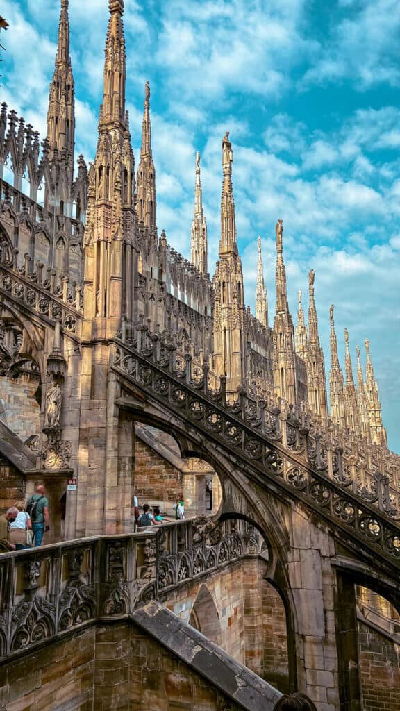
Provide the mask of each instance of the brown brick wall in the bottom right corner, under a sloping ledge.
POLYGON ((364 711, 399 711, 400 645, 362 622, 358 645, 364 711))

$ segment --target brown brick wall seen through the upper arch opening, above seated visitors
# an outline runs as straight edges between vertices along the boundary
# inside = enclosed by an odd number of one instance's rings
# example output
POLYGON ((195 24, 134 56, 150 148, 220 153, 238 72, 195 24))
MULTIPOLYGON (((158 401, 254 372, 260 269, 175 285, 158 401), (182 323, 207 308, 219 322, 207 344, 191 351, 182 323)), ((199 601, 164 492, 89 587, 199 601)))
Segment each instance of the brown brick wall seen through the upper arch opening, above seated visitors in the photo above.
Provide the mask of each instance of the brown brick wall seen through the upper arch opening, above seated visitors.
POLYGON ((135 487, 139 493, 139 503, 153 501, 176 501, 182 491, 183 477, 178 469, 162 459, 147 444, 136 439, 135 444, 135 487))

